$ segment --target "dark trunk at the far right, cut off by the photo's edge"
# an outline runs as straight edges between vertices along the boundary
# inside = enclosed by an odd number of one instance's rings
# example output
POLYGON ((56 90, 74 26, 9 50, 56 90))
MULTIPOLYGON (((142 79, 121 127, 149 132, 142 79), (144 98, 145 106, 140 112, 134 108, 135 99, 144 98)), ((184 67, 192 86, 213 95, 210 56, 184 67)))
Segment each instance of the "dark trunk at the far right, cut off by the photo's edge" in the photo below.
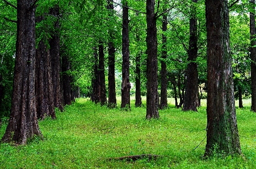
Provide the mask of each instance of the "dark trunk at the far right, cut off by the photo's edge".
POLYGON ((256 29, 255 29, 255 0, 250 0, 251 12, 250 12, 250 36, 251 36, 251 111, 256 112, 256 41, 254 40, 256 29))

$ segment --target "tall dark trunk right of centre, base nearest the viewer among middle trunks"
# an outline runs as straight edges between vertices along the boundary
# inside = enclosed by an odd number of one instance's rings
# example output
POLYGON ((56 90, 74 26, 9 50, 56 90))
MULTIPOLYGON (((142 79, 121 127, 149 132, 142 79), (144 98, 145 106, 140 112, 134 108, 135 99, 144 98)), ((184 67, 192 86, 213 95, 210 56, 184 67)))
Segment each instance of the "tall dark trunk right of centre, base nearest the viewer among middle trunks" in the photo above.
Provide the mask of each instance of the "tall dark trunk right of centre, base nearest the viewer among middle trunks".
POLYGON ((154 14, 155 1, 146 1, 146 47, 147 47, 147 67, 146 67, 146 119, 159 118, 158 112, 158 81, 157 81, 157 25, 154 14))

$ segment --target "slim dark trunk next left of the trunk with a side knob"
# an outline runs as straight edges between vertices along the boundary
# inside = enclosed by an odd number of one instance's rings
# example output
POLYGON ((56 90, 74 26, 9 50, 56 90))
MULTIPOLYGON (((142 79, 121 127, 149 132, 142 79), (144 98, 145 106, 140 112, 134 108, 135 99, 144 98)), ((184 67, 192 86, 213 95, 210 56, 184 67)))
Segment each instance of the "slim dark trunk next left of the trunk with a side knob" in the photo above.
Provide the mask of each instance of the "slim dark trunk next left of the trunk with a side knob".
MULTIPOLYGON (((114 14, 113 2, 107 1, 110 17, 114 14)), ((113 28, 114 29, 114 28, 113 28)), ((114 30, 110 27, 110 40, 108 40, 108 107, 116 107, 116 81, 115 81, 115 46, 114 30)))

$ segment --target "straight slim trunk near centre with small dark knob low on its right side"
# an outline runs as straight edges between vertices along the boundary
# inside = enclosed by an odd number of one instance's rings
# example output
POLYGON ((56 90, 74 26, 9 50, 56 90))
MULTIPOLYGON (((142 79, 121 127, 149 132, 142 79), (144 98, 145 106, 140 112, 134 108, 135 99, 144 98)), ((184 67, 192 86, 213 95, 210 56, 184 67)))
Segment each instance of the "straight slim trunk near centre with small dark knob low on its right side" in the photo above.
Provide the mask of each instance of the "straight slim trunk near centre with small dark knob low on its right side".
POLYGON ((129 15, 127 1, 125 1, 123 6, 123 30, 122 30, 122 54, 123 54, 123 64, 122 64, 122 84, 121 84, 121 108, 127 107, 130 109, 130 89, 131 84, 129 80, 129 15))

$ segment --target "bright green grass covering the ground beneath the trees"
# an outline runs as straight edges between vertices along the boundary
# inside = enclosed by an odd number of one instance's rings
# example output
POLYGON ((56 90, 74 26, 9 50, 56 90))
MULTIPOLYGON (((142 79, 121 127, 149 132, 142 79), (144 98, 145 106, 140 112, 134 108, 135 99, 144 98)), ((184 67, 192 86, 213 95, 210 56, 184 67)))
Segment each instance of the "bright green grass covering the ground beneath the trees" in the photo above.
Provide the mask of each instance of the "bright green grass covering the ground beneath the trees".
MULTIPOLYGON (((120 101, 120 98, 118 98, 120 101)), ((206 103, 198 112, 174 108, 160 110, 160 119, 145 120, 145 98, 131 111, 107 109, 87 99, 76 99, 57 111, 57 119, 39 122, 44 140, 27 145, 0 144, 0 168, 256 168, 256 114, 237 109, 243 155, 203 159, 206 144, 206 103), (204 139, 205 138, 205 139, 204 139), (157 154, 157 160, 109 161, 124 155, 157 154)), ((120 107, 120 103, 119 103, 120 107)), ((0 128, 0 138, 7 123, 0 128)))

